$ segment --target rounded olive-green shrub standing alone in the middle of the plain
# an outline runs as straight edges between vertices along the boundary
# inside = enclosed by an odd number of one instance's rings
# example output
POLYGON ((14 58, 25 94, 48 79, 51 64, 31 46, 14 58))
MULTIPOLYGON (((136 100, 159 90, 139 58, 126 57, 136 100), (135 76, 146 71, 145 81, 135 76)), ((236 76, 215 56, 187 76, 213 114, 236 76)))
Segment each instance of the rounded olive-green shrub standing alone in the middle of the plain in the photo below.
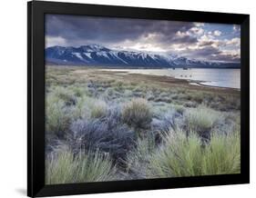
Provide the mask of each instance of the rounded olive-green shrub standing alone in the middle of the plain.
POLYGON ((136 98, 125 104, 122 117, 128 125, 135 128, 147 128, 152 121, 152 112, 147 100, 136 98))

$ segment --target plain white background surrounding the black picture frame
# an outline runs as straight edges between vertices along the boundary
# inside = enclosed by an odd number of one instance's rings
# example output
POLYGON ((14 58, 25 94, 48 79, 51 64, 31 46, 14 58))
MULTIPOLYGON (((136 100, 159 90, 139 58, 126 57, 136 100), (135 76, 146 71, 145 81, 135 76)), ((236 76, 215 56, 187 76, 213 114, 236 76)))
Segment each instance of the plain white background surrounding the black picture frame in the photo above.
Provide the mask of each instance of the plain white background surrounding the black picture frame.
MULTIPOLYGON (((67 0, 62 0, 67 2, 67 0)), ((71 1, 71 0, 70 0, 71 1)), ((147 6, 251 15, 251 184, 87 197, 255 197, 256 194, 256 9, 252 0, 72 0, 74 3, 147 6)), ((0 11, 0 197, 26 196, 26 1, 5 0, 0 11)), ((83 197, 80 195, 77 197, 83 197)), ((75 196, 74 196, 75 197, 75 196)))

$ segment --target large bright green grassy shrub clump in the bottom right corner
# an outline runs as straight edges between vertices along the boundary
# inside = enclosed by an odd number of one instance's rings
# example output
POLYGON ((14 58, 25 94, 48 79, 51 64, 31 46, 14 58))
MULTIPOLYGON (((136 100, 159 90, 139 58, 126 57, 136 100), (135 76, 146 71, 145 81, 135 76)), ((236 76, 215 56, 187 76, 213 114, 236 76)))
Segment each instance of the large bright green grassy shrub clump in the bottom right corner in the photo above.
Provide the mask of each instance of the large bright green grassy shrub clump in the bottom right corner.
POLYGON ((216 134, 204 146, 195 133, 170 133, 164 141, 149 159, 149 178, 240 173, 239 133, 216 134))

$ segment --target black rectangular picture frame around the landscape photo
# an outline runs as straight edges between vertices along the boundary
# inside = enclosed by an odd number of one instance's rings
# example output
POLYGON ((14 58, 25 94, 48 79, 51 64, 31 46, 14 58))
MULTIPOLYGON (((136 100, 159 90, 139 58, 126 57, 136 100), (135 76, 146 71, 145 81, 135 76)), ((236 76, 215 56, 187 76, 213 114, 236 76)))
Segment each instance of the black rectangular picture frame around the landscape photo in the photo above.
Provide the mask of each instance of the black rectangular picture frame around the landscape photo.
POLYGON ((250 182, 250 16, 128 6, 27 3, 27 195, 54 196, 250 182), (45 14, 96 15, 241 25, 241 173, 136 181, 45 184, 45 14))

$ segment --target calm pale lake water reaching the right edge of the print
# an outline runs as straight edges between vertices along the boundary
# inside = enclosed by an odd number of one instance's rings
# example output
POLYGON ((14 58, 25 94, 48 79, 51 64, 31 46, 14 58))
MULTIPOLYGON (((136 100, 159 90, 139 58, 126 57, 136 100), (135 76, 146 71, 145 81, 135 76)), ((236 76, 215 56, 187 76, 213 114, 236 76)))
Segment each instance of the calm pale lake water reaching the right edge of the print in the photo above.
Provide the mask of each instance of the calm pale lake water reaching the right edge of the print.
POLYGON ((190 84, 241 88, 240 69, 108 69, 108 71, 126 72, 127 74, 166 75, 192 81, 190 84), (198 83, 193 83, 193 81, 198 83))

